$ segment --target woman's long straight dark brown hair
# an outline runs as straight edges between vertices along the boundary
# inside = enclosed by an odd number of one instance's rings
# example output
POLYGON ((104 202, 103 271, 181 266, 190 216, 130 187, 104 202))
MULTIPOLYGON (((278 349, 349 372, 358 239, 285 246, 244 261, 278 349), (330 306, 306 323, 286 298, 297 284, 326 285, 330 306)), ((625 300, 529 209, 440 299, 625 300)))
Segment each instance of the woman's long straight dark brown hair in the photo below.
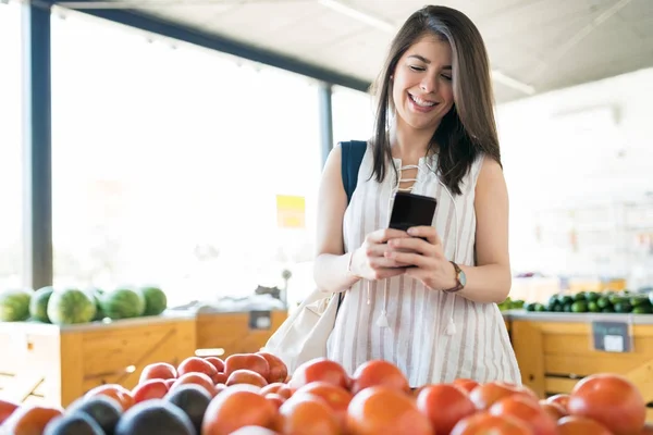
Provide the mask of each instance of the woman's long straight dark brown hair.
POLYGON ((428 5, 415 12, 391 44, 385 65, 372 88, 378 100, 372 176, 382 182, 386 162, 392 161, 387 135, 389 110, 394 110, 391 76, 402 55, 426 35, 446 40, 452 47, 454 107, 433 134, 429 152, 439 147, 439 176, 453 195, 460 195, 460 182, 479 153, 500 164, 501 153, 485 45, 467 15, 446 7, 428 5))

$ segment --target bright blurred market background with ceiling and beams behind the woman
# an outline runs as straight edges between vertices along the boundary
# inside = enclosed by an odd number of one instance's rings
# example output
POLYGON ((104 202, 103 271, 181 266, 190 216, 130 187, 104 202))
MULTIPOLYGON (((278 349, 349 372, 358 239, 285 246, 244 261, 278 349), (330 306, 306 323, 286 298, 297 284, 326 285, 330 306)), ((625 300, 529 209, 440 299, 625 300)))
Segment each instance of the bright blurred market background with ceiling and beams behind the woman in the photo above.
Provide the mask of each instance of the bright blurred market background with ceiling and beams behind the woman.
MULTIPOLYGON (((440 3, 490 53, 512 296, 652 286, 653 1, 440 3)), ((324 158, 370 136, 366 90, 422 5, 0 1, 0 288, 300 300, 324 158)))

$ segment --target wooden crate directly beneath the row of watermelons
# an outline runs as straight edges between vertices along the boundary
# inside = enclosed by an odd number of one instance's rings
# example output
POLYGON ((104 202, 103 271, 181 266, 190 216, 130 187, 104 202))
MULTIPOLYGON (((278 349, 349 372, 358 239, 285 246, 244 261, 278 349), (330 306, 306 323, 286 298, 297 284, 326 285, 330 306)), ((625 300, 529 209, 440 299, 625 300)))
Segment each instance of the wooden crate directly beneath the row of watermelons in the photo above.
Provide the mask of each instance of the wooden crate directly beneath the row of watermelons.
POLYGON ((0 322, 0 396, 67 406, 90 388, 133 388, 152 362, 195 352, 195 316, 151 316, 81 325, 0 322))

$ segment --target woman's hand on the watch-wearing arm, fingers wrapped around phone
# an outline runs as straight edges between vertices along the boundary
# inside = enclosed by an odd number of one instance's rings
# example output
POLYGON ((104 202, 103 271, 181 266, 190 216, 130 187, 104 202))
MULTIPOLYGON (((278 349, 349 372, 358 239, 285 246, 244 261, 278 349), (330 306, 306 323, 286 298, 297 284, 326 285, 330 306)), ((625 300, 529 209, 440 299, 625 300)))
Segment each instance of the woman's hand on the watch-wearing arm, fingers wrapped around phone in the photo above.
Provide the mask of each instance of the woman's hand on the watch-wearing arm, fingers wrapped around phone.
POLYGON ((408 265, 406 275, 417 278, 433 290, 446 290, 456 286, 454 265, 444 257, 442 240, 432 226, 408 228, 410 237, 393 238, 384 252, 387 260, 408 265), (422 238, 426 240, 423 240, 422 238), (408 251, 408 252, 406 252, 408 251))

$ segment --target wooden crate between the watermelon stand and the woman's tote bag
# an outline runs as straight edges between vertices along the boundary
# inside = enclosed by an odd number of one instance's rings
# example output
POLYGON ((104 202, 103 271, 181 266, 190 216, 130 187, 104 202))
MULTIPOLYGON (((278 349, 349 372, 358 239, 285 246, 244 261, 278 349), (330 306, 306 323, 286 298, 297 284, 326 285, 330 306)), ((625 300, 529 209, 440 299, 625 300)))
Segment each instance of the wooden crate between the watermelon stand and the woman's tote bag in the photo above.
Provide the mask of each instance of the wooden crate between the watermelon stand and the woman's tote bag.
POLYGON ((233 353, 257 352, 286 320, 286 311, 220 312, 197 314, 197 352, 226 358, 233 353), (269 313, 269 318, 268 318, 269 313), (256 319, 269 319, 257 323, 256 319))

